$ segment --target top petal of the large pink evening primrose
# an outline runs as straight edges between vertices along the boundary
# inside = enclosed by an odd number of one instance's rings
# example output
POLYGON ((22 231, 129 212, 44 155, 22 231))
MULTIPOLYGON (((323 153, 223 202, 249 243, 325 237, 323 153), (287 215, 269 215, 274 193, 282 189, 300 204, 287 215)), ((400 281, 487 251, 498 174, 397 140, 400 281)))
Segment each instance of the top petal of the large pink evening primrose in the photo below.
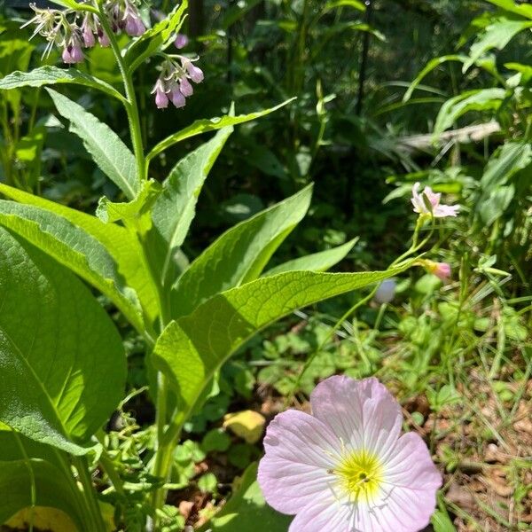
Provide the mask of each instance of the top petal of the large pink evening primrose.
POLYGON ((377 379, 325 379, 310 395, 310 404, 314 416, 353 450, 386 453, 401 432, 401 407, 377 379))

